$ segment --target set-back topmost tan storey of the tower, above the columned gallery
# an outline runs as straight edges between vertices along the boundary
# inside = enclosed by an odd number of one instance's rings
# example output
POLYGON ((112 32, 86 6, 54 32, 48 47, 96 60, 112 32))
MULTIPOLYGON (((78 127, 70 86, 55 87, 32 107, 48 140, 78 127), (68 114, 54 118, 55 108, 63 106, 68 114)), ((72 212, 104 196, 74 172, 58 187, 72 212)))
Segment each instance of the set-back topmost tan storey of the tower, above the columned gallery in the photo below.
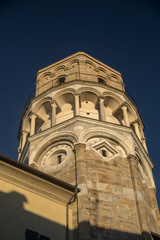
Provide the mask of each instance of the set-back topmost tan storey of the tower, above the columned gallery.
POLYGON ((75 80, 97 82, 124 91, 118 71, 84 52, 78 52, 38 71, 36 96, 51 87, 75 80))

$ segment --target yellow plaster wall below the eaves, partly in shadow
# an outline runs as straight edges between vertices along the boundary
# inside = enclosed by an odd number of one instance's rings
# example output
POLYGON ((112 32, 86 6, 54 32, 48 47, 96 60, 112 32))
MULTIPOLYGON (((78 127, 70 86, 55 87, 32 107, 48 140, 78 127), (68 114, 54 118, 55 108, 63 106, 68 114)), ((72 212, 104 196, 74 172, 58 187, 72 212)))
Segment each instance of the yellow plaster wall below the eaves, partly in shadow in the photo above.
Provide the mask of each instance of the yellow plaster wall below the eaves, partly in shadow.
MULTIPOLYGON (((34 183, 33 183, 34 186, 34 183)), ((26 229, 66 239, 66 205, 57 203, 13 183, 0 180, 0 239, 23 240, 26 229)), ((69 209, 69 227, 72 213, 69 209)), ((70 236, 71 237, 71 236, 70 236)))

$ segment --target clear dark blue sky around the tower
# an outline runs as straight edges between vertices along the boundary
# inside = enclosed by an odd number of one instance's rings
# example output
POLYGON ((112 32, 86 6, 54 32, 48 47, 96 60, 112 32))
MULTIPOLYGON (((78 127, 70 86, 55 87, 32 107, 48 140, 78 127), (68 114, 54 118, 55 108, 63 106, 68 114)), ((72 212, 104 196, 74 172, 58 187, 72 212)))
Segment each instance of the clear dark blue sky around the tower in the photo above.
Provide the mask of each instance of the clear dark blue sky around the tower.
POLYGON ((122 73, 154 162, 160 205, 160 1, 0 1, 0 153, 17 159, 17 133, 36 72, 84 51, 122 73))

